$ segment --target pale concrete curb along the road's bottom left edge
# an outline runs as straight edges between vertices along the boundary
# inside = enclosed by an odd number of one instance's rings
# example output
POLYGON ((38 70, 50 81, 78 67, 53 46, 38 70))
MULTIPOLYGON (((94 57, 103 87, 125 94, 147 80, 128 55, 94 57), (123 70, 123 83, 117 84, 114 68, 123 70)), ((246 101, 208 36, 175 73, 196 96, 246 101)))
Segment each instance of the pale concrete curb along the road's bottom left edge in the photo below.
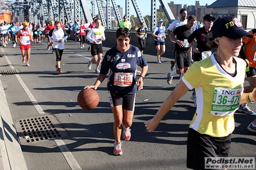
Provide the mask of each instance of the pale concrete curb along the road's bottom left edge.
POLYGON ((28 169, 1 80, 0 101, 0 167, 3 170, 28 169))

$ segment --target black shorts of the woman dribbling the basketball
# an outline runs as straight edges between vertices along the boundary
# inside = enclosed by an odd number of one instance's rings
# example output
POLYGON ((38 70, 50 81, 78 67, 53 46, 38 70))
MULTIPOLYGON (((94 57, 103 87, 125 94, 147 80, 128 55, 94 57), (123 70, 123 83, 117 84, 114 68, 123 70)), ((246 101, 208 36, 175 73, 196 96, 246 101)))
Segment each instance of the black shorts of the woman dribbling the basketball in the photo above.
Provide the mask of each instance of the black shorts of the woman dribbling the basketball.
POLYGON ((108 91, 108 98, 111 107, 122 105, 127 111, 134 111, 136 94, 119 94, 108 91))

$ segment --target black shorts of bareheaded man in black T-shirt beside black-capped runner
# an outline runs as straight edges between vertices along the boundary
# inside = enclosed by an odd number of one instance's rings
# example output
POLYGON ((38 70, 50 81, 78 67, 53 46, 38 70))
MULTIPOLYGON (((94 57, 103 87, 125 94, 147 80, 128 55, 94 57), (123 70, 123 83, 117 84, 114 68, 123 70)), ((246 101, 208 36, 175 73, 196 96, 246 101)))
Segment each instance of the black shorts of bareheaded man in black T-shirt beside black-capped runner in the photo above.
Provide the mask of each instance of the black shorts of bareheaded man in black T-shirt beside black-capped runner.
POLYGON ((184 66, 189 67, 191 65, 190 50, 186 50, 182 52, 176 51, 176 65, 179 70, 184 68, 184 66))

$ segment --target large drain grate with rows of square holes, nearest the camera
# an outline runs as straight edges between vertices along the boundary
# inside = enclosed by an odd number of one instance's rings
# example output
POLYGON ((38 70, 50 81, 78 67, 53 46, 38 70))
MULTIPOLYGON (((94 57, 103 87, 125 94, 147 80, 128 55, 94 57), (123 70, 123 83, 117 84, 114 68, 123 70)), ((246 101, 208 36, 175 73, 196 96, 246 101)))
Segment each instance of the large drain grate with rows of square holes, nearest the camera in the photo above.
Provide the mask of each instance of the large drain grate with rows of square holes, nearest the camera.
POLYGON ((15 123, 21 143, 58 139, 66 135, 54 116, 26 118, 15 123))

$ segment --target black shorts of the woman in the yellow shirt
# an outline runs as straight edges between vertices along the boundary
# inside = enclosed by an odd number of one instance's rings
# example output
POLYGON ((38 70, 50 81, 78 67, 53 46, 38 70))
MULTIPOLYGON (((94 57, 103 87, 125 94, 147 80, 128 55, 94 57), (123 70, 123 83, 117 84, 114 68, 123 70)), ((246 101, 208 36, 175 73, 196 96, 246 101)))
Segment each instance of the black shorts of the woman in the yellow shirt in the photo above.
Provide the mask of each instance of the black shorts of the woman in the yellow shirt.
POLYGON ((187 167, 205 169, 205 157, 228 157, 231 134, 226 137, 212 137, 189 128, 187 136, 187 167))

